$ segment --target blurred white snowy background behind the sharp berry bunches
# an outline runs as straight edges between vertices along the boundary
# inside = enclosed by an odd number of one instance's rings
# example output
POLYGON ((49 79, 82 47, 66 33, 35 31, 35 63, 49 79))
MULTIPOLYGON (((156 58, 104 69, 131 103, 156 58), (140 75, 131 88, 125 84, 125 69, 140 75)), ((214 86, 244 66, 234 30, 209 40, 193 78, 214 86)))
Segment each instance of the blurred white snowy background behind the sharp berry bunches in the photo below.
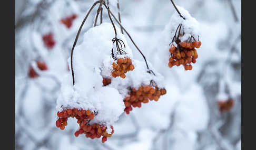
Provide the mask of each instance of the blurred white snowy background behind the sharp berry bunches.
MULTIPOLYGON (((55 126, 56 100, 68 73, 67 58, 87 10, 95 1, 15 1, 16 149, 241 149, 241 1, 174 1, 200 23, 199 58, 192 71, 160 63, 161 37, 175 9, 169 0, 120 0, 121 20, 135 43, 160 72, 167 93, 143 104, 113 125, 105 144, 75 137, 75 120, 55 126), (51 33, 51 34, 50 34, 51 33), (43 62, 43 68, 36 67, 43 62), (32 78, 33 77, 33 78, 32 78), (231 109, 220 102, 232 99, 231 109)), ((117 16, 115 0, 112 12, 117 16)), ((97 7, 83 26, 93 26, 97 7)), ((103 22, 109 22, 106 10, 103 22)), ((126 36, 126 35, 125 35, 126 36)), ((126 36, 134 58, 143 60, 126 36)), ((41 64, 41 65, 42 65, 41 64)))

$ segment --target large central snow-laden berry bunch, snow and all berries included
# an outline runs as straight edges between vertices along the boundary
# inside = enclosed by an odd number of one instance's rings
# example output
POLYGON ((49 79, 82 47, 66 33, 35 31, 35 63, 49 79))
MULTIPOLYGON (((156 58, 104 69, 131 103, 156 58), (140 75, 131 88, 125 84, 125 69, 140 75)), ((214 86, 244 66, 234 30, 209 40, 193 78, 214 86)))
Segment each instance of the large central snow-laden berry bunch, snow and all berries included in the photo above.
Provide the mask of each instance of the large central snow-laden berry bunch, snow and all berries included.
POLYGON ((143 61, 133 59, 119 28, 117 38, 125 45, 122 52, 113 44, 114 36, 110 23, 93 27, 84 34, 82 44, 74 49, 73 68, 70 68, 74 71, 74 85, 70 71, 63 80, 56 106, 58 127, 63 130, 67 117, 76 117, 80 124, 76 136, 84 133, 86 137, 99 138, 102 135, 103 143, 113 134, 112 125, 119 116, 124 111, 129 114, 131 110, 127 108, 141 107, 142 102, 149 100, 158 101, 166 93, 161 82, 163 77, 149 72, 143 61), (136 96, 130 89, 137 89, 136 96), (127 95, 131 95, 131 99, 128 100, 127 95), (86 114, 87 111, 94 115, 86 114), (62 113, 64 116, 59 116, 62 113))

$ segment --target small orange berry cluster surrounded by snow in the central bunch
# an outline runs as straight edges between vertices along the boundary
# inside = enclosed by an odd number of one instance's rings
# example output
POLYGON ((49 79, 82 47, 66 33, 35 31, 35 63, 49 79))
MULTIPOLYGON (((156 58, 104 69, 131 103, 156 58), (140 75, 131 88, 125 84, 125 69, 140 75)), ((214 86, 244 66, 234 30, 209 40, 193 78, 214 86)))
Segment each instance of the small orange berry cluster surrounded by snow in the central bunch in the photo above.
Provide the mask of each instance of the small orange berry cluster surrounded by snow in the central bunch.
POLYGON ((112 64, 114 71, 112 72, 112 76, 125 78, 125 74, 128 71, 132 71, 134 69, 134 65, 132 65, 132 60, 130 58, 119 58, 117 59, 117 63, 113 62, 112 64))

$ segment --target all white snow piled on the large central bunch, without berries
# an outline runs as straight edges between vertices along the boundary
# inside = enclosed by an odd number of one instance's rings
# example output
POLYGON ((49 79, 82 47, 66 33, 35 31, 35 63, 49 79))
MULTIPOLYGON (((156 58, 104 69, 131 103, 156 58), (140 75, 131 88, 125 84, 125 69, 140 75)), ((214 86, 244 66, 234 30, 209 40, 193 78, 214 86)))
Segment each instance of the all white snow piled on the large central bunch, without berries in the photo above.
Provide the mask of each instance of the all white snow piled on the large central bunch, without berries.
MULTIPOLYGON (((126 74, 126 78, 112 78, 112 83, 102 87, 102 77, 111 76, 112 63, 116 62, 111 56, 115 45, 111 41, 115 36, 112 24, 103 23, 89 29, 83 36, 83 42, 74 49, 73 69, 75 85, 72 83, 72 74, 65 77, 62 83, 61 94, 57 99, 56 109, 90 109, 97 111, 97 115, 90 123, 101 123, 109 126, 119 119, 123 113, 123 99, 128 94, 128 87, 139 88, 149 85, 154 80, 157 87, 164 88, 163 76, 155 72, 147 73, 144 61, 132 59, 132 50, 120 29, 117 28, 117 38, 123 40, 126 54, 117 55, 117 58, 128 57, 135 66, 133 71, 126 74)), ((71 58, 68 58, 68 62, 71 58)), ((70 62, 69 62, 70 63, 70 62)), ((69 65, 71 66, 71 65, 69 65)), ((151 67, 151 63, 149 62, 151 67)), ((71 70, 71 68, 70 68, 71 70)), ((111 131, 110 131, 111 132, 111 131)))

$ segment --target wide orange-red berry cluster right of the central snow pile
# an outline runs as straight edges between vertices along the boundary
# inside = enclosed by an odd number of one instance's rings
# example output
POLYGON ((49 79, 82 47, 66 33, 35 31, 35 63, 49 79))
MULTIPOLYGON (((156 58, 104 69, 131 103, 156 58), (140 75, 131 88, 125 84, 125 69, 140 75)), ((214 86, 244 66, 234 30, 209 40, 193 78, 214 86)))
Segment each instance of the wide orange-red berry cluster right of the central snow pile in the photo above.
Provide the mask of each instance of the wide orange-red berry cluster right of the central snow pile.
POLYGON ((166 94, 165 89, 151 87, 150 85, 141 86, 139 89, 132 88, 129 96, 124 99, 126 114, 132 111, 132 106, 141 108, 141 103, 148 103, 149 100, 158 101, 161 95, 166 94))

